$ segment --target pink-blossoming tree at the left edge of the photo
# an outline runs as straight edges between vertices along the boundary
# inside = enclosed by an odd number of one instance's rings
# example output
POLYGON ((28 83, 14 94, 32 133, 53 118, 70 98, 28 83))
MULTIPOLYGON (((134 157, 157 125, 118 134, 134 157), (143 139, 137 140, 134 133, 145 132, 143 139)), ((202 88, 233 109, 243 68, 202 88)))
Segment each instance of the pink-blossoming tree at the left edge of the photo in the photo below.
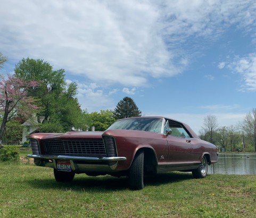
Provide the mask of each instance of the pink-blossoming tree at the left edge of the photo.
POLYGON ((18 116, 29 118, 38 108, 35 100, 28 96, 29 88, 36 88, 36 81, 25 82, 15 75, 0 75, 0 140, 2 139, 6 123, 18 116))

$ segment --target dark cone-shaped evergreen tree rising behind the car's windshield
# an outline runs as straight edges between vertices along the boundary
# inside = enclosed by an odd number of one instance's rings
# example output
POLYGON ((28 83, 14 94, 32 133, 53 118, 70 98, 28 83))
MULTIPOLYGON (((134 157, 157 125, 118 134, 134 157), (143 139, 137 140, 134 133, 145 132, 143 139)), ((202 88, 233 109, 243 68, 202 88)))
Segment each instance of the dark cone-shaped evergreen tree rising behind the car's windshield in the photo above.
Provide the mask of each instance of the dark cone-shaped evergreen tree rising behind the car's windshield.
POLYGON ((138 109, 134 100, 130 97, 124 97, 118 102, 113 112, 115 119, 132 118, 134 116, 141 116, 142 112, 138 109))

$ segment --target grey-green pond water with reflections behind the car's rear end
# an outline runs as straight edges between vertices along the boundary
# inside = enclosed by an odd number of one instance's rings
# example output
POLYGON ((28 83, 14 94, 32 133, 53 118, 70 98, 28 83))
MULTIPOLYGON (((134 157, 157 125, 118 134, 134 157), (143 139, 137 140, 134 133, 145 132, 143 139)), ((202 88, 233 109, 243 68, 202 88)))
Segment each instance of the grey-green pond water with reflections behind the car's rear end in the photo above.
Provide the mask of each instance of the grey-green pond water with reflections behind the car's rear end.
POLYGON ((209 166, 208 173, 256 175, 256 154, 220 153, 218 162, 209 166))

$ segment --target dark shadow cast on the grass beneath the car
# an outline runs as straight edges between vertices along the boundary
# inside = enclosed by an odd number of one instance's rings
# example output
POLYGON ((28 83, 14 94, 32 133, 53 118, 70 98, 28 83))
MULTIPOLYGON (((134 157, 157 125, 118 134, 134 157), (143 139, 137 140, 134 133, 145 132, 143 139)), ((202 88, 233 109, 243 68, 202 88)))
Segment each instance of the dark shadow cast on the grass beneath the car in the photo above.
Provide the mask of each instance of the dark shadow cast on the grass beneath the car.
MULTIPOLYGON (((192 179, 191 173, 170 172, 144 178, 144 187, 161 186, 164 184, 192 179)), ((72 189, 73 191, 117 191, 128 189, 126 177, 112 177, 110 175, 88 177, 85 174, 76 175, 72 182, 56 182, 54 177, 25 181, 29 186, 36 189, 72 189)))

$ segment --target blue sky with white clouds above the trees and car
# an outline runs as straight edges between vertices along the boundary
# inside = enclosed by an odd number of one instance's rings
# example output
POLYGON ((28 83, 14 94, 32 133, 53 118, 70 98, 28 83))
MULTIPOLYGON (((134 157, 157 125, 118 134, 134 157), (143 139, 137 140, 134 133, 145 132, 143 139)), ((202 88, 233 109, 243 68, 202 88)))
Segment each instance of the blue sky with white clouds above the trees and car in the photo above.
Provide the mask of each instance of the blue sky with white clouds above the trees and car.
POLYGON ((0 73, 42 59, 77 82, 89 113, 134 99, 199 133, 256 108, 255 0, 2 0, 0 73))

